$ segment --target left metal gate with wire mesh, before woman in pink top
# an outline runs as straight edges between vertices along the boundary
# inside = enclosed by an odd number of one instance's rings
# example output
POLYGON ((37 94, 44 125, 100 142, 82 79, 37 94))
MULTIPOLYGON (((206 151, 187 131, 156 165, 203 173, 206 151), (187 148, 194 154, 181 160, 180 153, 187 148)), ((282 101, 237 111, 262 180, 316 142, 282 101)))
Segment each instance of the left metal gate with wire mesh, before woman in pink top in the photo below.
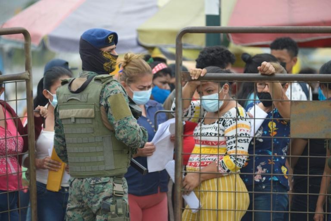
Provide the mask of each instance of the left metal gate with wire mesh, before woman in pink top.
MULTIPOLYGON (((1 220, 24 220, 23 214, 31 211, 32 220, 36 218, 36 185, 34 167, 34 120, 32 101, 31 40, 24 28, 0 28, 0 35, 23 34, 25 72, 0 75, 0 198, 1 220), (25 87, 26 98, 18 96, 17 91, 25 87), (15 94, 6 93, 6 88, 15 88, 15 94), (23 116, 18 103, 26 105, 23 116), (19 113, 19 114, 17 114, 19 113), (29 123, 24 125, 24 121, 29 123), (29 174, 22 171, 22 157, 29 153, 29 174), (27 194, 29 189, 29 194, 27 194), (26 199, 26 197, 29 197, 26 199), (30 203, 28 203, 30 201, 30 203)), ((9 91, 9 90, 8 90, 9 91)))

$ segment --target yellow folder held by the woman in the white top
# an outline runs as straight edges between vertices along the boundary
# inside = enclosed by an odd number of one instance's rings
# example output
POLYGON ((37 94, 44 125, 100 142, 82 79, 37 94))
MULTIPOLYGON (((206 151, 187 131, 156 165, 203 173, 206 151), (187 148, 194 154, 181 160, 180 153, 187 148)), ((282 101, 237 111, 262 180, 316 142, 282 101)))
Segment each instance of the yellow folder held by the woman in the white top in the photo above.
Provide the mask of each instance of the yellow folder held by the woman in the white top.
POLYGON ((46 189, 49 191, 53 191, 53 192, 59 192, 59 190, 61 189, 61 182, 62 182, 62 177, 64 174, 64 168, 65 168, 66 164, 64 162, 62 162, 62 160, 58 157, 54 148, 52 151, 51 158, 52 158, 52 160, 56 160, 62 164, 61 164, 61 168, 59 168, 58 171, 51 171, 51 170, 48 171, 46 189))

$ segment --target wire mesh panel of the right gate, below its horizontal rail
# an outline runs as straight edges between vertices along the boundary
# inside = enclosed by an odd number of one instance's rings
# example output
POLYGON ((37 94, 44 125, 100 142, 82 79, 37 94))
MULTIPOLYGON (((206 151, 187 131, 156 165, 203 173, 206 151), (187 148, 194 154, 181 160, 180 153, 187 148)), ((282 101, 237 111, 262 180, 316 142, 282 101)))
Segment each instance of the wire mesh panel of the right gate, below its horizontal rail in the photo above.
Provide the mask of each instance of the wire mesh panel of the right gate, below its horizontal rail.
MULTIPOLYGON (((312 220, 318 196, 327 195, 320 193, 321 182, 329 183, 322 181, 322 175, 328 158, 330 101, 294 101, 291 95, 287 99, 285 91, 296 83, 288 81, 273 82, 282 90, 280 99, 259 99, 261 90, 268 91, 272 83, 255 80, 250 82, 254 85, 252 96, 239 98, 238 90, 231 92, 239 83, 243 82, 202 80, 195 99, 179 98, 184 112, 178 121, 196 123, 193 134, 180 136, 184 140, 180 194, 192 190, 188 186, 194 183, 190 179, 195 179, 194 193, 200 203, 196 212, 180 204, 182 220, 275 220, 280 216, 312 220), (215 91, 222 102, 206 96, 215 91), (217 101, 216 110, 220 111, 206 111, 208 99, 217 101), (190 138, 193 148, 185 141, 190 138)), ((327 200, 322 204, 324 219, 328 204, 327 200)))

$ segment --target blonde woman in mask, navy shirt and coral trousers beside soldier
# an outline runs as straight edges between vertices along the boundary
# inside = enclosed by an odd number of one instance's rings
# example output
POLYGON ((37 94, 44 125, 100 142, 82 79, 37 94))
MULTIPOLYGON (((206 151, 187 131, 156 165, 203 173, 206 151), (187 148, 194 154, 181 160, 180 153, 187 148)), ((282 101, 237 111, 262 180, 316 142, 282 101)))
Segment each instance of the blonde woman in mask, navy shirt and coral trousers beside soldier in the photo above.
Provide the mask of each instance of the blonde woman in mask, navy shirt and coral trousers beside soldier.
MULTIPOLYGON (((142 116, 137 120, 140 126, 148 132, 148 142, 144 148, 138 148, 133 158, 147 168, 147 156, 153 155, 155 145, 151 142, 155 135, 154 116, 156 111, 163 110, 160 103, 151 100, 153 74, 151 67, 140 55, 127 53, 121 64, 119 82, 123 85, 128 96, 139 105, 142 116)), ((165 122, 166 114, 157 116, 157 124, 165 122)), ((168 175, 166 170, 142 175, 133 167, 125 174, 129 188, 129 205, 131 221, 167 221, 168 175)))

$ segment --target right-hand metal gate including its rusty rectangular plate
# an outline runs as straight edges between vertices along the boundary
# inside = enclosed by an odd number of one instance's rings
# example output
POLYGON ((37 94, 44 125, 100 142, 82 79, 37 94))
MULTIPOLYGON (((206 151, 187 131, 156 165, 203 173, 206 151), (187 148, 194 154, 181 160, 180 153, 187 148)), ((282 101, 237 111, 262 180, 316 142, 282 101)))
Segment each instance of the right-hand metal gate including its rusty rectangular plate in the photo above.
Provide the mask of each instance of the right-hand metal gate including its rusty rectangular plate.
MULTIPOLYGON (((183 156, 183 112, 182 112, 182 83, 187 81, 192 81, 188 72, 182 72, 182 38, 186 33, 331 33, 331 27, 188 27, 183 28, 179 31, 176 37, 176 142, 175 142, 175 198, 174 198, 174 218, 176 221, 182 220, 182 179, 183 174, 186 172, 182 167, 182 156, 183 156)), ((204 77, 200 77, 198 80, 201 81, 218 81, 218 82, 324 82, 331 83, 331 74, 330 75, 314 75, 314 74, 305 74, 305 75, 293 75, 293 74, 276 74, 272 76, 263 76, 257 74, 213 74, 208 73, 204 77)), ((291 128, 291 136, 290 138, 331 138, 331 117, 330 114, 325 114, 330 112, 330 102, 292 102, 291 101, 291 122, 298 122, 298 125, 302 125, 302 121, 305 117, 309 117, 307 119, 307 124, 311 124, 311 127, 307 129, 296 127, 296 133, 292 134, 291 128), (327 109, 328 108, 328 109, 327 109), (298 110, 306 110, 299 112, 298 110), (322 111, 324 110, 324 112, 322 111), (312 111, 316 111, 316 115, 314 115, 314 119, 312 118, 312 111), (314 122, 323 121, 325 125, 316 125, 314 122), (322 127, 323 126, 323 127, 322 127), (324 131, 323 131, 324 130, 324 131), (316 137, 316 134, 321 134, 321 137, 316 137)), ((291 123, 292 124, 292 123, 291 123)), ((309 141, 308 141, 309 142, 309 141)), ((308 144, 308 150, 309 150, 308 144)), ((201 154, 201 152, 200 152, 201 154)), ((285 157, 285 156, 284 156, 285 157)), ((292 157, 296 157, 291 155, 291 153, 287 156, 290 161, 292 157)), ((297 156, 298 157, 298 156, 297 156)), ((307 156, 309 159, 309 155, 307 156)), ((321 157, 321 159, 325 160, 325 156, 321 157)), ((200 159, 201 160, 201 159, 200 159)), ((308 161, 309 162, 309 161, 308 161)), ((308 167, 309 168, 309 167, 308 167)), ((200 172, 199 172, 200 173, 200 172)), ((270 173, 273 175, 273 172, 270 173)), ((252 176, 254 175, 251 174, 252 176)), ((313 177, 314 175, 308 176, 313 177)), ((308 185, 307 185, 308 188, 308 185)), ((217 191, 222 191, 221 189, 217 189, 217 191)), ((198 191, 199 192, 199 191, 198 191)), ((272 192, 272 190, 271 190, 272 192)), ((199 192, 200 194, 200 192, 199 192)), ((271 193, 270 193, 271 194, 271 193)), ((293 193, 289 193, 290 195, 293 193)), ((298 193, 299 194, 299 193, 298 193)), ((271 194, 272 195, 272 194, 271 194)), ((313 196, 314 194, 309 194, 309 196, 313 196)), ((316 195, 316 194, 315 194, 316 195)), ((318 195, 318 194, 317 194, 318 195)), ((307 194, 307 197, 309 197, 307 194)), ((271 196, 272 197, 272 196, 271 196)), ((265 202, 269 203, 269 202, 265 202)), ((217 208, 217 207, 216 207, 217 208)), ((200 208, 200 211, 204 210, 204 208, 200 208)), ((255 211, 254 207, 253 210, 255 211)), ((279 212, 273 211, 272 212, 279 212)), ((291 212, 291 206, 289 208, 289 212, 291 212)), ((324 211, 325 212, 325 211, 324 211)), ((308 213, 308 211, 307 211, 308 213)), ((290 218, 290 213, 287 213, 287 219, 290 218)), ((326 218, 326 216, 325 216, 326 218)), ((325 219, 324 218, 324 219, 325 219)), ((254 218, 253 218, 254 219, 254 218)), ((286 217, 284 217, 286 220, 286 217)), ((199 218, 197 219, 199 220, 199 218)), ((217 220, 222 220, 220 217, 217 220)))

